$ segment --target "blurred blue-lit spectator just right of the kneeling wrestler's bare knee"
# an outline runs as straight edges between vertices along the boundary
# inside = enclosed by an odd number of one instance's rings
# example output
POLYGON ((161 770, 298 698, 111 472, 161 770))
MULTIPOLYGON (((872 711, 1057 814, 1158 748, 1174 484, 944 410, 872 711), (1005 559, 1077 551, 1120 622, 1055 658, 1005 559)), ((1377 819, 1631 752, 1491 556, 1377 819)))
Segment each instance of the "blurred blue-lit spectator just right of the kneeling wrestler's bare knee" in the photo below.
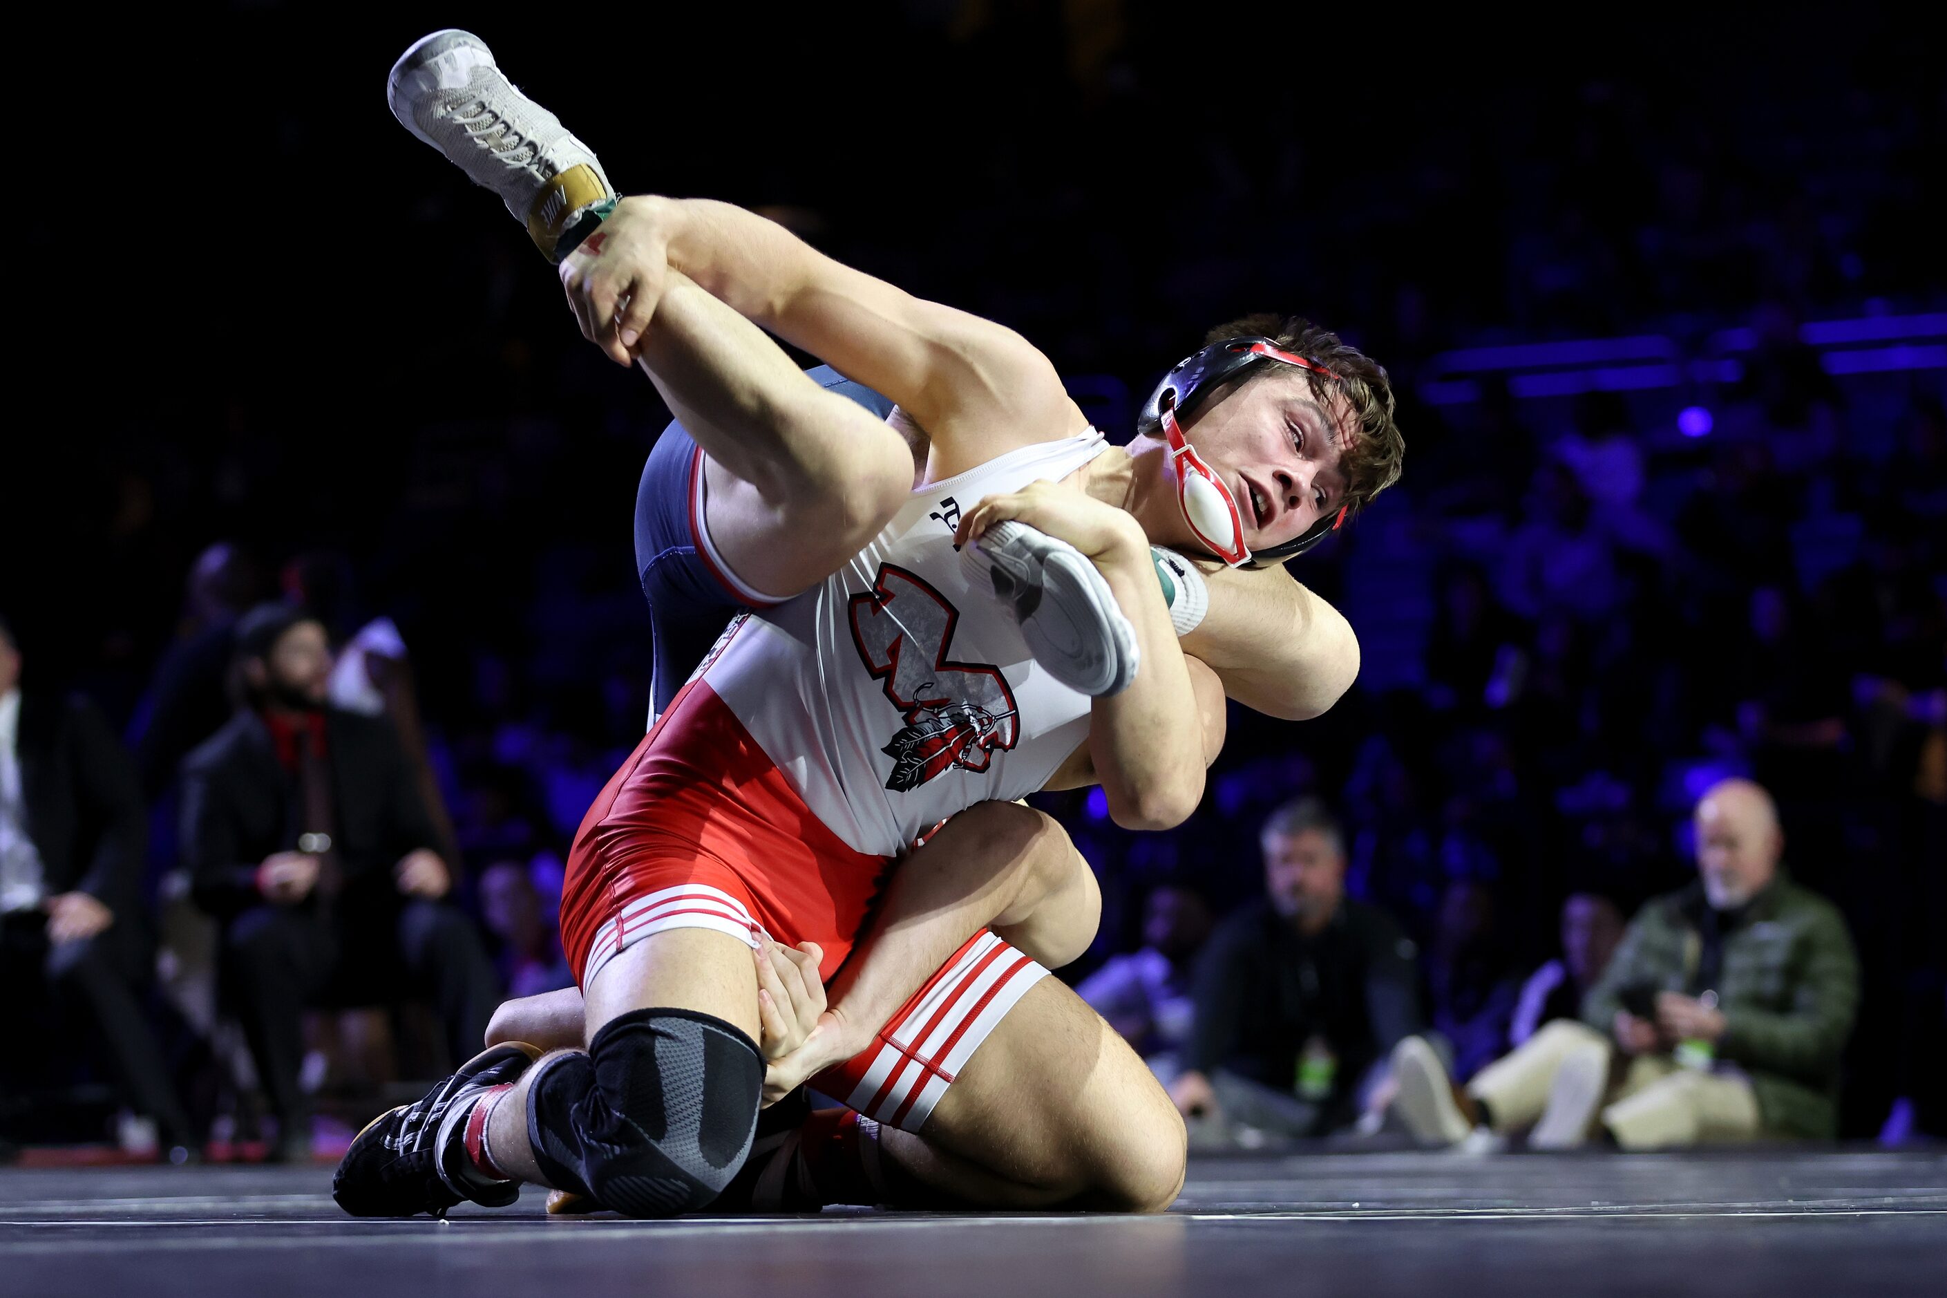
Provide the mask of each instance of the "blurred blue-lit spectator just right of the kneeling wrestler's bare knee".
POLYGON ((1192 976, 1209 935, 1211 906, 1203 893, 1158 883, 1143 908, 1143 947, 1112 955, 1075 988, 1164 1084, 1176 1080, 1190 1047, 1192 976))

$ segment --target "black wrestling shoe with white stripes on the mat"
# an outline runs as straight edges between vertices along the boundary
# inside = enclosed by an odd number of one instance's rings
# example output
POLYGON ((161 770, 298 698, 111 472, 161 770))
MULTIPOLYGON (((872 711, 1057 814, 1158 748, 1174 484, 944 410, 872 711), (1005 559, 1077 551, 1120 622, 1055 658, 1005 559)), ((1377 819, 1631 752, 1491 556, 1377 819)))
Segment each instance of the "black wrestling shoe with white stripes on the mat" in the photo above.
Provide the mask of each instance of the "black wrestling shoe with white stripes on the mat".
POLYGON ((491 1047, 419 1103, 366 1123, 331 1177, 331 1197, 352 1216, 446 1216, 463 1199, 489 1208, 520 1199, 520 1181, 495 1181, 467 1158, 461 1119, 487 1089, 514 1082, 537 1058, 541 1050, 526 1041, 491 1047))

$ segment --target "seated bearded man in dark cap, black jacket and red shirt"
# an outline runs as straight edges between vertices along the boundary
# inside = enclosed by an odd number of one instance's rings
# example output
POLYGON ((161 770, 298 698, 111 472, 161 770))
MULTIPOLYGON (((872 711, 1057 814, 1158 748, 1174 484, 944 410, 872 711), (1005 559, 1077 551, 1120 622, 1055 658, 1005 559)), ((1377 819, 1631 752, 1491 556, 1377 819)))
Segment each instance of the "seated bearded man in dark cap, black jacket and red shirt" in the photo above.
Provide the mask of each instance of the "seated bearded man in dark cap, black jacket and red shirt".
POLYGON ((452 869, 391 725, 325 704, 325 628, 290 604, 251 610, 238 672, 247 706, 183 766, 183 859, 224 926, 224 994, 292 1158, 308 1148, 306 1006, 424 992, 467 1058, 498 986, 473 922, 442 900, 452 869))

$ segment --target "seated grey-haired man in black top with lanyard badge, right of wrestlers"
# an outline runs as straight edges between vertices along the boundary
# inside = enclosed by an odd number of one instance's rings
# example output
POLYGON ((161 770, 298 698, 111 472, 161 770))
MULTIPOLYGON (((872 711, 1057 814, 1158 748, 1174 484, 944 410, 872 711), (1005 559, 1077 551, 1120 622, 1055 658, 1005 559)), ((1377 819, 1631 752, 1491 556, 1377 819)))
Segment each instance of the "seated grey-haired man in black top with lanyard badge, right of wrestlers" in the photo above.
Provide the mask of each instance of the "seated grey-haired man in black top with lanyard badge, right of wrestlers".
POLYGON ((1345 834, 1314 797, 1266 821, 1266 898, 1217 928, 1170 1097, 1186 1115, 1281 1136, 1357 1117, 1367 1072, 1421 1029, 1414 943, 1345 897, 1345 834))

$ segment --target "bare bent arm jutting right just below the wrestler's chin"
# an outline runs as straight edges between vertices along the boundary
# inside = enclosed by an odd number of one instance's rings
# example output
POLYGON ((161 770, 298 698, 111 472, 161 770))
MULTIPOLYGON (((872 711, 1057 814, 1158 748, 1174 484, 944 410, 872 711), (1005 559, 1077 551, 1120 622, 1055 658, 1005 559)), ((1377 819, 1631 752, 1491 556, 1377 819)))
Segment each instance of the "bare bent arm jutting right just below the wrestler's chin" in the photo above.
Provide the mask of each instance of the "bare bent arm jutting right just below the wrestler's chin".
POLYGON ((1359 676, 1359 637, 1340 610, 1281 567, 1207 573, 1209 612, 1184 635, 1225 694, 1285 721, 1308 721, 1359 676))

